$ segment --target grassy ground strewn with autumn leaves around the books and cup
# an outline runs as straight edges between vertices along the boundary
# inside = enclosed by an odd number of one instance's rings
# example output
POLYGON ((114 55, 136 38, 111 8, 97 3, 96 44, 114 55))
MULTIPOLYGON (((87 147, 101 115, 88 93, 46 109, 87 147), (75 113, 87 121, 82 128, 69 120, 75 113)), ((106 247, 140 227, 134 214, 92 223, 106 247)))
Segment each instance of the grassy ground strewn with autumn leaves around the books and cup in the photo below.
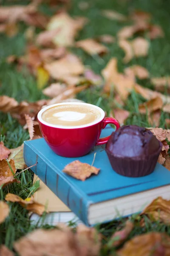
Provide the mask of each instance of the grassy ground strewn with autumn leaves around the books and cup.
POLYGON ((32 225, 31 212, 46 213, 23 160, 23 141, 41 137, 38 111, 80 100, 150 129, 170 169, 168 1, 1 3, 0 255, 169 256, 170 201, 161 197, 140 215, 91 229, 32 225))

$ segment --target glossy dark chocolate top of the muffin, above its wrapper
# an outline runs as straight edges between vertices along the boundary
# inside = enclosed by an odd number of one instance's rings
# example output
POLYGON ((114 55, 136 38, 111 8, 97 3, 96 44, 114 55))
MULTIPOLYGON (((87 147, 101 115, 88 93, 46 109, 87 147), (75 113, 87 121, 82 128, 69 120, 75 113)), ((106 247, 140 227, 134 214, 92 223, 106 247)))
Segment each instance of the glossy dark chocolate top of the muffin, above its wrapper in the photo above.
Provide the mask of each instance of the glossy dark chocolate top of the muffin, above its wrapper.
POLYGON ((123 125, 111 134, 106 150, 118 157, 139 157, 156 153, 159 140, 146 128, 137 125, 123 125))

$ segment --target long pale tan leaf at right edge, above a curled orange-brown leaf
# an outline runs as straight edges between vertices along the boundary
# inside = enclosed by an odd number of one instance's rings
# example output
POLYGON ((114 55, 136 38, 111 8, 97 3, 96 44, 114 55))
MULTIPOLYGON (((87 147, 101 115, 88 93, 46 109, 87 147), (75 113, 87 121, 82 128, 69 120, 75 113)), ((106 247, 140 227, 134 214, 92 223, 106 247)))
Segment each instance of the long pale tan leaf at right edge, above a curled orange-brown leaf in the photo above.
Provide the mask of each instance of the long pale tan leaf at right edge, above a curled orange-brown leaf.
POLYGON ((166 96, 159 92, 144 88, 139 84, 135 84, 134 89, 136 90, 136 93, 139 93, 144 99, 150 100, 159 96, 164 104, 170 104, 170 96, 166 96))

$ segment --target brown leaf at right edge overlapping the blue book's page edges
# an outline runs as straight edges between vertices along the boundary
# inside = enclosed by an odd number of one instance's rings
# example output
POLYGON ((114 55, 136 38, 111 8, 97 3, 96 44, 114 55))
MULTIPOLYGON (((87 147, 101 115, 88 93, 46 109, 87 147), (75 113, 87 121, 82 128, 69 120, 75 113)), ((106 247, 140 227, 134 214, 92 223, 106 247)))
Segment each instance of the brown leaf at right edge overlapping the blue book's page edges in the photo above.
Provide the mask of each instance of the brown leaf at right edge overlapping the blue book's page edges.
POLYGON ((165 224, 169 224, 170 200, 166 200, 159 196, 144 208, 141 215, 143 214, 148 215, 148 217, 153 221, 159 220, 165 224))

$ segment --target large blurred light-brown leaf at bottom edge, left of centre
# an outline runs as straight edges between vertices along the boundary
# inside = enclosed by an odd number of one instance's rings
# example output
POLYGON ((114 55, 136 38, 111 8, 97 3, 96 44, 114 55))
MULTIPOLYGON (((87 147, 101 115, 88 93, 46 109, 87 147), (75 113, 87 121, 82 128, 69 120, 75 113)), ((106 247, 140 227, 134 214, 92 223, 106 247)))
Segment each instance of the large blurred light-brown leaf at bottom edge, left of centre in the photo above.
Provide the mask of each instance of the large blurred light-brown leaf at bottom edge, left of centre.
MULTIPOLYGON (((34 230, 14 243, 20 256, 62 255, 80 256, 77 239, 68 227, 51 230, 34 230)), ((82 255, 88 256, 88 255, 82 255)))

